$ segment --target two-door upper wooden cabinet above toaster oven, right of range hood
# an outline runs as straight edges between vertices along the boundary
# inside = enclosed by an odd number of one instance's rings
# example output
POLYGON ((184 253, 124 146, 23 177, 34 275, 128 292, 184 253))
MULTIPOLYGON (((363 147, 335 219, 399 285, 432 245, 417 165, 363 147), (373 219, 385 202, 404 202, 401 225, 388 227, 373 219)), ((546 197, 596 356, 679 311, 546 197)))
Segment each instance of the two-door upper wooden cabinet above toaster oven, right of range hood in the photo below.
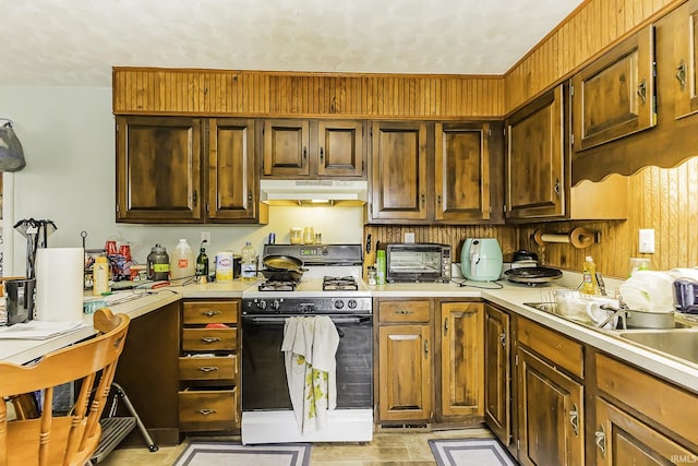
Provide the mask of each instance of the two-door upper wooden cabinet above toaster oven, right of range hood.
POLYGON ((374 121, 370 222, 490 220, 493 124, 374 121))

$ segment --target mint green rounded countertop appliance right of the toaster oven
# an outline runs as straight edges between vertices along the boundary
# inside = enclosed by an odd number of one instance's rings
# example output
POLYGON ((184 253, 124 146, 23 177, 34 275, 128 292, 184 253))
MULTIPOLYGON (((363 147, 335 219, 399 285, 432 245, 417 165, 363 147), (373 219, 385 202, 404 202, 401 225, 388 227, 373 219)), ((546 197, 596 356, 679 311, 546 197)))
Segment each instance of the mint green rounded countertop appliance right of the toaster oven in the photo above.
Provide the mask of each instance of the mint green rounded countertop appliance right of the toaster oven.
POLYGON ((466 279, 493 282, 502 276, 502 248, 495 238, 468 238, 460 252, 466 279))

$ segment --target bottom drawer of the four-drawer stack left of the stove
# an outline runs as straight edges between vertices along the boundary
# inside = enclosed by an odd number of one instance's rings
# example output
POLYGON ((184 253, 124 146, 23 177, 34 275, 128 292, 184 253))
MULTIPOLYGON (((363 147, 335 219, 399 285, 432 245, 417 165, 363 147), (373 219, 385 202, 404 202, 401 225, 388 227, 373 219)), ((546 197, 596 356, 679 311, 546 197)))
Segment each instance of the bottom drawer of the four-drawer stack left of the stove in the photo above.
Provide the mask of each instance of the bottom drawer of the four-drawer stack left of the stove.
POLYGON ((183 431, 233 430, 238 425, 236 389, 179 392, 179 428, 183 431))

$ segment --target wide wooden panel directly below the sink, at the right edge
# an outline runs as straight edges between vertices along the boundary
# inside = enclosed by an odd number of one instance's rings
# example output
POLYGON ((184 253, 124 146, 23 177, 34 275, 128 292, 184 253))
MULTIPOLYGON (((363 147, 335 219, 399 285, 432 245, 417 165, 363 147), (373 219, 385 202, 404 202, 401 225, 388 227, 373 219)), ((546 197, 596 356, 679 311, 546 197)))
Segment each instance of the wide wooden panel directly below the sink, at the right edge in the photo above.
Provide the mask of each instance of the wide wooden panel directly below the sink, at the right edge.
POLYGON ((601 354, 597 355, 595 365, 601 392, 684 439, 696 441, 698 396, 695 393, 601 354))

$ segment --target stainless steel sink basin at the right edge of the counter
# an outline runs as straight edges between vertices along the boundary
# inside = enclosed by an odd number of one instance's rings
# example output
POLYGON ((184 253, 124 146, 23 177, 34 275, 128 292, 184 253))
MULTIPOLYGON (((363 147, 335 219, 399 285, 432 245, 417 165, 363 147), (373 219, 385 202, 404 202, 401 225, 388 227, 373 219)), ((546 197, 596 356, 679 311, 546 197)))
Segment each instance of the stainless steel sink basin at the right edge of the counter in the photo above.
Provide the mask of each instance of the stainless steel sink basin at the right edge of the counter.
POLYGON ((698 328, 630 330, 621 338, 698 365, 698 328))

